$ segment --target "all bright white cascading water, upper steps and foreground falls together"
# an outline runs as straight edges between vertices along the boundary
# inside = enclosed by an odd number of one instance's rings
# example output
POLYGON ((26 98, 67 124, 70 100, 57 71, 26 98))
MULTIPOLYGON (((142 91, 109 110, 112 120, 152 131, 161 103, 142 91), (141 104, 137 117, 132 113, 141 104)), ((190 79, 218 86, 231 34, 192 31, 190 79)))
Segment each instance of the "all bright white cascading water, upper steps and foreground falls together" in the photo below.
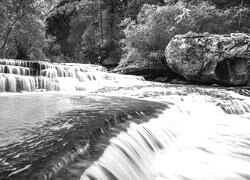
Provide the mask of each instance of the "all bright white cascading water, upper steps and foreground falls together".
POLYGON ((249 98, 219 88, 150 83, 93 65, 0 60, 0 92, 23 91, 84 91, 171 104, 111 139, 81 180, 250 179, 249 98))

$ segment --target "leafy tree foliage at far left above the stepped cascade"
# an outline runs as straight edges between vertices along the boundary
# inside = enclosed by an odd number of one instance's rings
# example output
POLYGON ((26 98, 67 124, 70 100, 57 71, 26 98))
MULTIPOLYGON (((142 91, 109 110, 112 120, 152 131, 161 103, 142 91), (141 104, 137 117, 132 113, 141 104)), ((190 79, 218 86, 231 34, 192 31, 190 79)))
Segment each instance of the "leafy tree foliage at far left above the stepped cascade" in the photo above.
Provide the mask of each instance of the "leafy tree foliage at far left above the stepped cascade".
POLYGON ((44 60, 47 40, 43 13, 46 2, 35 0, 0 2, 2 12, 0 57, 44 60))

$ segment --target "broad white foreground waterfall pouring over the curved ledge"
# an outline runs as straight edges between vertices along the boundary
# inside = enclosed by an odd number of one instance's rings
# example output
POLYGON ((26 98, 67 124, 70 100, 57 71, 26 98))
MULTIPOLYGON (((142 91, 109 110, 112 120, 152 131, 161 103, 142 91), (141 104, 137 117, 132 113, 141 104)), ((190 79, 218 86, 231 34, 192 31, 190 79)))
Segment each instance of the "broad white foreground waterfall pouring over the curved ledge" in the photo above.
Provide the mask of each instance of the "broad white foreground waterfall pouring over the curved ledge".
POLYGON ((81 180, 249 179, 249 102, 227 101, 228 110, 211 97, 167 100, 159 117, 112 138, 81 180))

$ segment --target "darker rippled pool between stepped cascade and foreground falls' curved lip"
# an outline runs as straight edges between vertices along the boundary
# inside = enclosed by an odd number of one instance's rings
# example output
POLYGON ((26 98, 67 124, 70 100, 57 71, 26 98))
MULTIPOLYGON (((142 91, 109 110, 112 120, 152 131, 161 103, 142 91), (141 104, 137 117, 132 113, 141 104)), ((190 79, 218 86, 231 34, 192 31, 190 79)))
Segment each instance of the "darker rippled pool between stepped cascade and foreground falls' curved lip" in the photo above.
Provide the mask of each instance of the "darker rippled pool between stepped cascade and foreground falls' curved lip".
POLYGON ((85 154, 100 128, 102 133, 112 124, 145 119, 167 107, 126 97, 69 93, 5 94, 0 100, 6 102, 0 108, 0 179, 18 180, 51 177, 85 154))

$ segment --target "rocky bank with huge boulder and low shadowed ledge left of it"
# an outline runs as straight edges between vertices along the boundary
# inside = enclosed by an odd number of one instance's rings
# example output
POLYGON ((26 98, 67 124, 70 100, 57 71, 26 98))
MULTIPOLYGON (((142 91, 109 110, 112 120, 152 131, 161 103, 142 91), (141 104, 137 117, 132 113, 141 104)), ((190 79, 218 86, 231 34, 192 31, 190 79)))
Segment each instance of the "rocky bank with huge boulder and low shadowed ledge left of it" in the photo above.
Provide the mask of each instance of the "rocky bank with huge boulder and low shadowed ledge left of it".
POLYGON ((172 38, 164 61, 121 61, 114 71, 160 82, 248 86, 249 61, 250 36, 246 34, 189 32, 172 38))

